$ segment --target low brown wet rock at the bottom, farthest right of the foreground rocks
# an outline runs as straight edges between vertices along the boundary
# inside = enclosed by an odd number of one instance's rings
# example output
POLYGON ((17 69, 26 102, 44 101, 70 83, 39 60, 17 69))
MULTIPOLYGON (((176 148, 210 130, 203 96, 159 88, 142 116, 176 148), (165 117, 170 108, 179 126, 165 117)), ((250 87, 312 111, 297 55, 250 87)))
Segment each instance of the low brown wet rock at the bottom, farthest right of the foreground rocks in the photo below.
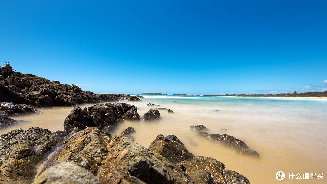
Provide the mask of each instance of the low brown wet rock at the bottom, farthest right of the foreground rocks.
POLYGON ((235 171, 227 170, 223 163, 213 158, 195 156, 190 161, 182 161, 176 165, 190 176, 193 176, 193 178, 199 177, 204 180, 208 178, 207 183, 211 183, 210 177, 206 176, 207 174, 203 172, 209 172, 211 174, 213 183, 250 184, 250 181, 246 177, 235 171))

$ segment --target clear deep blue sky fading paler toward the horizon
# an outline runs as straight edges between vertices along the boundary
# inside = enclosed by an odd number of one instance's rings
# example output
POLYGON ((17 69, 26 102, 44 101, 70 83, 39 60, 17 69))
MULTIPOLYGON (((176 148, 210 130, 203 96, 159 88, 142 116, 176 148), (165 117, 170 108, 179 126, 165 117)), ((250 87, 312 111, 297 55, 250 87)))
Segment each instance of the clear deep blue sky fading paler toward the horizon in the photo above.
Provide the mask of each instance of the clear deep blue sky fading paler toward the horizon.
POLYGON ((0 8, 0 59, 85 91, 327 90, 325 0, 2 0, 0 8))

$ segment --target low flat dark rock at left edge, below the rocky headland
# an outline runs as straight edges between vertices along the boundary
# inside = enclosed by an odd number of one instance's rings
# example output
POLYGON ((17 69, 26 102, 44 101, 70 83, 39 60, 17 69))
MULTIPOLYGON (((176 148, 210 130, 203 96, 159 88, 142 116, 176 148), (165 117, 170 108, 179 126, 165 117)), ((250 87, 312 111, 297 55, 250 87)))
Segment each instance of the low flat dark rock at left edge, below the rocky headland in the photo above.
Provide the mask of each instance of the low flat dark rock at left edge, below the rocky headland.
POLYGON ((0 102, 0 110, 5 111, 6 115, 41 113, 30 105, 16 105, 10 102, 0 102))

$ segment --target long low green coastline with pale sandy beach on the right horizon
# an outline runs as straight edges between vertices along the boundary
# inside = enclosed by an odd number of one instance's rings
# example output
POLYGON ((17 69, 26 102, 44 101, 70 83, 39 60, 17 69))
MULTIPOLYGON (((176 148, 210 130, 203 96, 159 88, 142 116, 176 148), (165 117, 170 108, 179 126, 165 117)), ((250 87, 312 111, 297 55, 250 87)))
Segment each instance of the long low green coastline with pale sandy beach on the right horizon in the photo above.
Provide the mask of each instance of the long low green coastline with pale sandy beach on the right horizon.
POLYGON ((327 97, 327 91, 325 92, 302 92, 297 93, 280 93, 280 94, 224 94, 224 95, 204 95, 204 96, 261 96, 261 97, 327 97))

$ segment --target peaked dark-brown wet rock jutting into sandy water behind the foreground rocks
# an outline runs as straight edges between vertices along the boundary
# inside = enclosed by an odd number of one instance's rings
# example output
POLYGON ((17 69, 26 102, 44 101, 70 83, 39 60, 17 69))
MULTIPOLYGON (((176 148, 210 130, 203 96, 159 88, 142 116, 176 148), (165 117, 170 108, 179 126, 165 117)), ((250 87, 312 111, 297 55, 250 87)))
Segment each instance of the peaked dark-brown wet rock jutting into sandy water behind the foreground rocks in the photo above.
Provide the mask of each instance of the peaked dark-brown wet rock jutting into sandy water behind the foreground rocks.
POLYGON ((151 143, 150 151, 157 152, 169 161, 178 163, 183 160, 191 160, 194 155, 190 153, 184 144, 174 135, 164 137, 158 135, 151 143))

